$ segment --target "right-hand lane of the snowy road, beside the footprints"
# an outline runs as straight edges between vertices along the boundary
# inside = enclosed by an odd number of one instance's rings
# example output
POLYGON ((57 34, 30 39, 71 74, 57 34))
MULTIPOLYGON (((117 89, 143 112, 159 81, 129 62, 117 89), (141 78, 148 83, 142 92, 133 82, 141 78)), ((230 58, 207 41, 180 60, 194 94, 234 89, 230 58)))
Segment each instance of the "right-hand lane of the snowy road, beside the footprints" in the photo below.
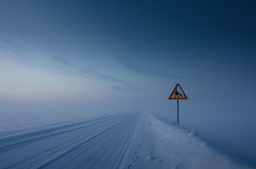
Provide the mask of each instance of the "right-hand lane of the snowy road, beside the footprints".
MULTIPOLYGON (((104 132, 101 132, 92 140, 89 140, 85 144, 81 144, 79 149, 73 149, 61 157, 53 159, 51 161, 51 167, 59 167, 63 164, 65 159, 69 159, 71 164, 64 164, 65 167, 81 167, 81 168, 120 168, 125 159, 126 153, 129 149, 132 136, 134 135, 136 124, 134 123, 134 116, 123 120, 116 124, 115 127, 109 128, 104 132), (135 125, 134 125, 135 124, 135 125), (130 131, 130 133, 129 133, 130 131), (110 135, 111 136, 108 136, 110 135), (120 136, 118 136, 120 134, 120 136), (128 136, 127 136, 128 135, 128 136), (107 137, 107 138, 106 138, 107 137), (103 141, 102 141, 103 140, 103 141), (108 145, 105 145, 109 142, 108 145), (105 149, 101 150, 99 147, 103 146, 105 149), (97 148, 96 148, 97 147, 97 148), (87 152, 84 154, 81 152, 87 152), (107 154, 107 158, 105 156, 107 154), (81 156, 86 156, 81 160, 81 156), (89 157, 89 158, 88 158, 89 157), (85 159, 85 160, 84 160, 85 159)), ((40 168, 48 168, 48 165, 44 165, 40 168)))

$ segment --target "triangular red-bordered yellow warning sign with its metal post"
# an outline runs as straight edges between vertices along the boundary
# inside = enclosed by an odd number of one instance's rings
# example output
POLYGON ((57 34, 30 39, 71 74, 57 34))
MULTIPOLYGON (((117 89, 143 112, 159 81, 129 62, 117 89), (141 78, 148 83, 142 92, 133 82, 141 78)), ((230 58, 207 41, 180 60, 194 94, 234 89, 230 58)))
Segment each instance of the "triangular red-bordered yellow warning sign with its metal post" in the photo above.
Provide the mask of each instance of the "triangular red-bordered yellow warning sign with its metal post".
POLYGON ((169 100, 177 100, 177 123, 179 123, 179 100, 187 100, 187 96, 177 83, 175 88, 172 91, 172 94, 169 97, 169 100))

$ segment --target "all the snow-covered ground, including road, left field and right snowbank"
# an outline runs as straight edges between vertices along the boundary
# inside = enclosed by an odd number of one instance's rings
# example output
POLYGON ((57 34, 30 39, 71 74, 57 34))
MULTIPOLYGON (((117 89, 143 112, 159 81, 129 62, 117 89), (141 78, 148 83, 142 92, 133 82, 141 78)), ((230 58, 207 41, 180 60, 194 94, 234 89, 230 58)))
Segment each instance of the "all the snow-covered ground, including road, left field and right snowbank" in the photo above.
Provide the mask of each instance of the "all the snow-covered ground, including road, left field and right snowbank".
POLYGON ((0 121, 0 168, 255 168, 178 123, 150 114, 0 121))

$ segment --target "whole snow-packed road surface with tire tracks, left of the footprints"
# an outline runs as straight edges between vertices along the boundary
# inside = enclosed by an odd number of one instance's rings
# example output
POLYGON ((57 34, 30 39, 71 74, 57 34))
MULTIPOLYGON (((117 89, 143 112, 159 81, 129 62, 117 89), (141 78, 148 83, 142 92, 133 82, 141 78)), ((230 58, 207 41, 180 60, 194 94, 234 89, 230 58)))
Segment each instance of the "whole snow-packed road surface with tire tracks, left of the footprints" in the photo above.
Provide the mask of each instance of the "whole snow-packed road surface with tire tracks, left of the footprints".
POLYGON ((0 151, 0 166, 95 168, 105 164, 104 167, 109 166, 107 168, 120 168, 139 123, 139 115, 127 114, 83 127, 65 128, 64 131, 55 131, 56 133, 49 135, 40 134, 36 138, 28 138, 22 142, 18 139, 15 143, 12 140, 13 145, 5 146, 7 150, 3 153, 0 151), (8 149, 8 146, 12 149, 8 149))

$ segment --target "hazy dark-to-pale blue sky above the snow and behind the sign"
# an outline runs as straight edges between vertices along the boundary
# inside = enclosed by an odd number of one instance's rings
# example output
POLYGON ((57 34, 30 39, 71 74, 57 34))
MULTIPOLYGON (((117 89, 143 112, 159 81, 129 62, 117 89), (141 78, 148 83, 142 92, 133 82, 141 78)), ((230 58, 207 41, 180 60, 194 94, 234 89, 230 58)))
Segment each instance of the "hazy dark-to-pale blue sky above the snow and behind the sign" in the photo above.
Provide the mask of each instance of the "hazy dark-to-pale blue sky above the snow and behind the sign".
POLYGON ((255 117, 253 1, 0 2, 3 112, 255 117), (31 107, 34 107, 31 109, 31 107))

